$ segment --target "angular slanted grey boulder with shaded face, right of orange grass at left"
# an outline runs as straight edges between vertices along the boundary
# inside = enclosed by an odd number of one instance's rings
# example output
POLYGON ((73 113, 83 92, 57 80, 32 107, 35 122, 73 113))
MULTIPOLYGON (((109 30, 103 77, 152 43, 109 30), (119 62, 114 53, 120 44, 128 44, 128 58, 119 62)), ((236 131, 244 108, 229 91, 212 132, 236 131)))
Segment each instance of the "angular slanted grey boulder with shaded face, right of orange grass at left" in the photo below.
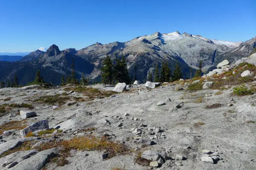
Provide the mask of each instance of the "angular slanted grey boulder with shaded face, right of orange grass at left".
POLYGON ((48 120, 41 120, 39 122, 35 122, 35 123, 29 125, 28 127, 24 128, 23 130, 20 130, 20 135, 22 137, 26 137, 26 135, 29 132, 34 132, 36 130, 47 129, 47 128, 49 128, 48 120))

